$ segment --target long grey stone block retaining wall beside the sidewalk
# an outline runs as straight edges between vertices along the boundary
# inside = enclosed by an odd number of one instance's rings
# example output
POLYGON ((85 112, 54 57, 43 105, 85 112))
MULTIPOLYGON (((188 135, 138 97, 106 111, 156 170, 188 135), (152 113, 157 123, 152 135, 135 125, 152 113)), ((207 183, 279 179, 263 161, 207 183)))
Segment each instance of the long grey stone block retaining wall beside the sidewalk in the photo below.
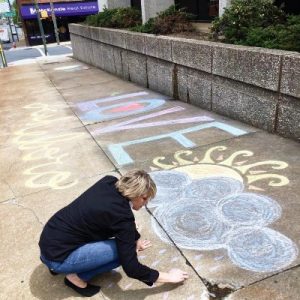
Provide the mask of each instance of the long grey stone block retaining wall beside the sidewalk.
POLYGON ((74 57, 125 80, 300 140, 300 54, 70 25, 74 57))

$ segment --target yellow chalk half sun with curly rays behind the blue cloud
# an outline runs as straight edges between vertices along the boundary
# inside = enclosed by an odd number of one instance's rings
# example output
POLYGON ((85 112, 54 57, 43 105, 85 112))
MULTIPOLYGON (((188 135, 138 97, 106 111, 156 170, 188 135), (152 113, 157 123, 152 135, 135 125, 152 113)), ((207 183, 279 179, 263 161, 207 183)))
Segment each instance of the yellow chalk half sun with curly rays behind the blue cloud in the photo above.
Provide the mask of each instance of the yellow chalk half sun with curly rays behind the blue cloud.
POLYGON ((238 161, 241 157, 253 157, 254 153, 249 150, 240 150, 232 153, 229 157, 225 157, 225 146, 215 146, 208 149, 203 156, 203 159, 199 160, 199 153, 194 154, 190 150, 180 150, 174 153, 175 161, 172 164, 166 161, 164 156, 156 157, 153 159, 153 165, 151 170, 171 170, 182 171, 188 174, 192 179, 200 179, 204 177, 223 176, 230 177, 240 182, 244 182, 249 185, 249 189, 264 191, 261 187, 256 187, 252 183, 258 181, 268 181, 268 186, 279 187, 289 184, 289 179, 286 176, 274 174, 270 172, 270 169, 283 170, 289 165, 284 161, 278 160, 266 160, 255 163, 248 163, 248 160, 238 161), (222 152, 222 153, 220 153, 222 152), (216 158, 214 158, 214 156, 216 158), (222 158, 222 160, 221 160, 222 158), (257 167, 260 169, 265 166, 267 170, 251 170, 257 167))

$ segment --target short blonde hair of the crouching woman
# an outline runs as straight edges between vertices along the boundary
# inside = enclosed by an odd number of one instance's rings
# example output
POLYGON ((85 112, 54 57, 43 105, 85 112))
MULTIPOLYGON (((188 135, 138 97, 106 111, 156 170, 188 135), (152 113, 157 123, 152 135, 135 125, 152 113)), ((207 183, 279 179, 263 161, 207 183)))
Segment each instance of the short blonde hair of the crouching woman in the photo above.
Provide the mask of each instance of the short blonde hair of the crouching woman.
POLYGON ((156 185, 150 175, 144 170, 131 170, 121 176, 116 182, 116 188, 126 198, 146 195, 149 200, 156 195, 156 185))

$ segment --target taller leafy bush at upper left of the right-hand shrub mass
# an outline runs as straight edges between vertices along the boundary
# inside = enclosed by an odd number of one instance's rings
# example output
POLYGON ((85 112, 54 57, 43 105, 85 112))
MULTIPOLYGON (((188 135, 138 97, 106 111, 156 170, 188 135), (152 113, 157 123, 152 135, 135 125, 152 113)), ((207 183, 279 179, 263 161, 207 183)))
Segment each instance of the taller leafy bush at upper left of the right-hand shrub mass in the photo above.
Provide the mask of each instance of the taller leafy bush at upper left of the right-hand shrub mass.
POLYGON ((221 18, 212 24, 212 33, 225 42, 243 44, 252 28, 283 24, 285 13, 272 0, 233 0, 221 18))

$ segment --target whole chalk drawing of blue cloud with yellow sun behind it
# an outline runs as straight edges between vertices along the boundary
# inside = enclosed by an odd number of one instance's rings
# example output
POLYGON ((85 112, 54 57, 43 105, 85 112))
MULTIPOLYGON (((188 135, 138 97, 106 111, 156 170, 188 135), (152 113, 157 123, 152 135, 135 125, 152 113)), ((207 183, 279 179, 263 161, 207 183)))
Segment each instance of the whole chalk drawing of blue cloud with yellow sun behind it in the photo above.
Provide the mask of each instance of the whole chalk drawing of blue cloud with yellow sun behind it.
MULTIPOLYGON (((239 154, 252 155, 250 151, 239 151, 223 160, 223 164, 217 162, 213 165, 213 150, 225 149, 222 146, 208 150, 206 161, 198 158, 188 161, 180 155, 188 156, 192 151, 180 151, 174 155, 175 160, 177 158, 177 162, 173 162, 174 168, 164 164, 164 158, 155 159, 155 165, 165 170, 150 173, 157 186, 157 196, 148 203, 148 207, 169 237, 182 249, 226 249, 234 265, 253 272, 275 272, 287 267, 298 256, 297 245, 287 236, 267 227, 281 217, 280 205, 265 195, 244 192, 243 175, 247 175, 250 168, 264 163, 235 163, 239 154)), ((287 167, 280 161, 267 161, 265 164, 276 170, 287 167)), ((288 183, 284 176, 262 173, 251 171, 246 177, 248 184, 257 181, 257 178, 265 180, 267 175, 276 179, 271 180, 269 186, 288 183)), ((263 190, 251 185, 250 189, 263 190)), ((160 225, 152 218, 155 233, 162 241, 170 243, 160 225)))

